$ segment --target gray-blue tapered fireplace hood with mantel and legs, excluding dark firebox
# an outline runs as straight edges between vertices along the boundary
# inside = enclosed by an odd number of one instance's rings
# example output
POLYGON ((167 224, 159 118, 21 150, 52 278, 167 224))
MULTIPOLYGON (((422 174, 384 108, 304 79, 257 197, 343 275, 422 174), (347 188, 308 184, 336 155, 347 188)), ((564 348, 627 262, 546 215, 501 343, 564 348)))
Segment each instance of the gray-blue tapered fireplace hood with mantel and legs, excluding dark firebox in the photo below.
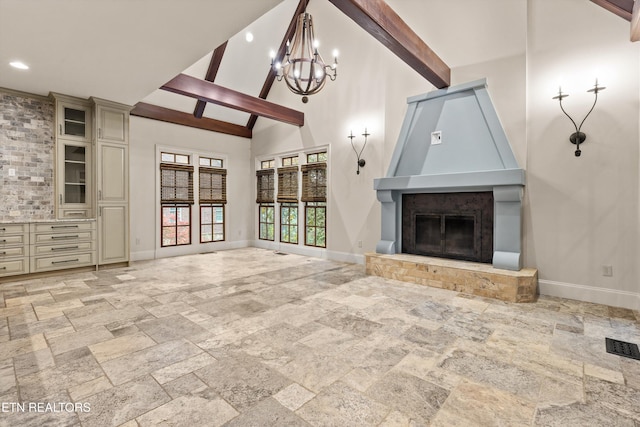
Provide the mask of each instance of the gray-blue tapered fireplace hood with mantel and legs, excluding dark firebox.
POLYGON ((378 253, 402 247, 402 194, 493 191, 493 266, 522 268, 522 192, 518 166, 486 79, 407 100, 386 177, 374 180, 382 204, 378 253))

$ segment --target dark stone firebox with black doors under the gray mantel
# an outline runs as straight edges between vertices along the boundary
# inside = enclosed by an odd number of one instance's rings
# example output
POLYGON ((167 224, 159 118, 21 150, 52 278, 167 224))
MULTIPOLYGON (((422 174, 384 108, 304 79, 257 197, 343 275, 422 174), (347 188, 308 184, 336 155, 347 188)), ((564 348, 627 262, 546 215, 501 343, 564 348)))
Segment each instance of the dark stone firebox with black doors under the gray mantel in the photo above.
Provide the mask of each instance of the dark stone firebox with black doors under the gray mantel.
POLYGON ((402 252, 490 263, 493 193, 404 194, 402 252))

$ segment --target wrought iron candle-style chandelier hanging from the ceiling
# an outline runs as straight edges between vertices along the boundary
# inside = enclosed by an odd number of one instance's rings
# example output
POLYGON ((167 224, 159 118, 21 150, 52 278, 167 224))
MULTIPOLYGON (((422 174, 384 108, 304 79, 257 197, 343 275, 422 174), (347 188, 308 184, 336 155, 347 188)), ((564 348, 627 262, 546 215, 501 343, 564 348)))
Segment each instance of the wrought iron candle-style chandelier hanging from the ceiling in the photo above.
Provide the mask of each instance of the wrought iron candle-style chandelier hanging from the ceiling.
POLYGON ((327 65, 318 52, 318 41, 313 31, 313 19, 306 11, 298 17, 296 31, 282 62, 271 54, 271 67, 278 81, 284 79, 291 92, 302 95, 302 102, 309 102, 309 95, 318 93, 327 81, 337 77, 338 53, 333 52, 333 64, 327 65))

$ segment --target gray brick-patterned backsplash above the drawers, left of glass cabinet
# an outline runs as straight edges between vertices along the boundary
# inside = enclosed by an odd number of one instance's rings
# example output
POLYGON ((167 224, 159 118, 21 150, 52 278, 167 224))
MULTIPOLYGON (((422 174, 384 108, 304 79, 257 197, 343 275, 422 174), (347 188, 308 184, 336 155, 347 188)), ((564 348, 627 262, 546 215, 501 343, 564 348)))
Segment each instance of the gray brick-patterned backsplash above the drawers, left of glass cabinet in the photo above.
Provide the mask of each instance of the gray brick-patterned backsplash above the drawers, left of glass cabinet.
POLYGON ((54 219, 52 102, 0 91, 0 221, 54 219))

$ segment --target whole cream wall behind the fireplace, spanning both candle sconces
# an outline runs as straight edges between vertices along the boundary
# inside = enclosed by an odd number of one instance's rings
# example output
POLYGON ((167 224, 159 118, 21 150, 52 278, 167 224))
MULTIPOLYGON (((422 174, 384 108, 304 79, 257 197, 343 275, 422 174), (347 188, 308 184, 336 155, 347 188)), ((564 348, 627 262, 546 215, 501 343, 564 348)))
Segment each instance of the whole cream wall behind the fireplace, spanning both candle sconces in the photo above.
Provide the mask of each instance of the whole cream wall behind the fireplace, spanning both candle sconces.
MULTIPOLYGON (((640 44, 628 41, 628 22, 582 0, 483 1, 471 14, 483 18, 465 14, 462 23, 448 11, 451 2, 388 2, 401 15, 414 11, 407 22, 452 67, 452 84, 487 78, 527 171, 524 262, 538 268, 541 293, 640 308, 640 44), (568 142, 571 123, 551 99, 561 76, 571 93, 565 106, 580 120, 595 77, 607 86, 583 127, 588 140, 580 158, 568 142), (612 277, 602 276, 603 265, 613 267, 612 277)), ((309 11, 324 38, 321 51, 341 51, 338 80, 306 105, 276 83, 269 100, 304 111, 306 123, 298 129, 260 119, 252 156, 330 145, 327 252, 360 255, 380 237, 372 181, 386 174, 406 98, 433 86, 328 2, 311 2, 309 11), (367 165, 356 176, 346 135, 359 135, 364 125, 372 136, 367 165)))

